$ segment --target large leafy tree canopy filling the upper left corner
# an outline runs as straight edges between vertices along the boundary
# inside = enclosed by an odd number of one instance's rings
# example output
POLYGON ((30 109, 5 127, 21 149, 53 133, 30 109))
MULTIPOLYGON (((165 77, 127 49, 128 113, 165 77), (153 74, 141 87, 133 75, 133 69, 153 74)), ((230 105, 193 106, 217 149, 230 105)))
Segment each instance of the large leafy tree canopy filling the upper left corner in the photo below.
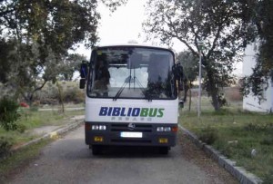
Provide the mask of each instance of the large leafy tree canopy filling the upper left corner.
MULTIPOLYGON (((102 1, 113 10, 126 2, 102 1)), ((56 81, 59 63, 68 57, 68 49, 78 43, 87 47, 96 44, 100 19, 96 7, 96 0, 1 1, 0 39, 14 43, 14 48, 6 52, 13 53, 13 60, 10 66, 3 65, 12 71, 1 81, 9 82, 31 103, 34 93, 46 82, 56 81)))

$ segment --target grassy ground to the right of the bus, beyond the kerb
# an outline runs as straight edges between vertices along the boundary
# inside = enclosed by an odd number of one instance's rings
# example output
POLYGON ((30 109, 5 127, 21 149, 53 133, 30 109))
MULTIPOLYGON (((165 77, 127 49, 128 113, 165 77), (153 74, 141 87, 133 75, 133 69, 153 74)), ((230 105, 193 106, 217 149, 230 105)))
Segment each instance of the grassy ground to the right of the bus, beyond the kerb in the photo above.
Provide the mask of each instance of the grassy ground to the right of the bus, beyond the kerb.
MULTIPOLYGON (((214 111, 207 98, 202 99, 201 118, 197 111, 181 111, 179 121, 187 130, 195 132, 238 166, 272 179, 273 173, 273 115, 244 112, 238 102, 221 111, 214 111), (251 151, 256 150, 252 156, 251 151)), ((193 102, 193 107, 196 103, 193 102)), ((271 180, 272 182, 273 180, 271 180)))

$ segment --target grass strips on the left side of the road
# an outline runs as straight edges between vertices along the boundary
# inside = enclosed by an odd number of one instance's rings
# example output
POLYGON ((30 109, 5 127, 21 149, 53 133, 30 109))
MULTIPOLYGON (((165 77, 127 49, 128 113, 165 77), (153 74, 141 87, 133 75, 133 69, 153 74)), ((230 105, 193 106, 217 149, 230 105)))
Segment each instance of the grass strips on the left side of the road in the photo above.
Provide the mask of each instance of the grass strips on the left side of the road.
MULTIPOLYGON (((42 126, 65 125, 70 118, 76 115, 83 115, 84 111, 31 111, 23 109, 20 111, 21 118, 18 123, 25 126, 25 131, 4 131, 0 128, 1 137, 12 142, 14 146, 23 144, 36 137, 31 134, 31 130, 42 126)), ((40 150, 52 140, 41 140, 33 145, 27 146, 22 150, 15 151, 12 154, 5 154, 0 157, 0 183, 5 183, 9 175, 16 170, 20 170, 29 163, 29 161, 39 156, 40 150)))

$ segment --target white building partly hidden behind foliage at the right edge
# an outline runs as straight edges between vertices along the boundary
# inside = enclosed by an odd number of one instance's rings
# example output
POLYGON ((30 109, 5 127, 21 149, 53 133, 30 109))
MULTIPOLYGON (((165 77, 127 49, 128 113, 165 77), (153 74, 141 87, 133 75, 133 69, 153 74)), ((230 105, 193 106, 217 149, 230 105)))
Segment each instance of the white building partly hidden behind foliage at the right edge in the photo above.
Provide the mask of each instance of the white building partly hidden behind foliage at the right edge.
MULTIPOLYGON (((256 64, 256 53, 258 52, 258 44, 248 44, 243 58, 243 75, 248 76, 253 73, 252 68, 256 64)), ((243 109, 247 111, 273 112, 273 82, 269 79, 268 89, 264 89, 263 99, 258 101, 258 97, 248 94, 243 99, 243 109)))

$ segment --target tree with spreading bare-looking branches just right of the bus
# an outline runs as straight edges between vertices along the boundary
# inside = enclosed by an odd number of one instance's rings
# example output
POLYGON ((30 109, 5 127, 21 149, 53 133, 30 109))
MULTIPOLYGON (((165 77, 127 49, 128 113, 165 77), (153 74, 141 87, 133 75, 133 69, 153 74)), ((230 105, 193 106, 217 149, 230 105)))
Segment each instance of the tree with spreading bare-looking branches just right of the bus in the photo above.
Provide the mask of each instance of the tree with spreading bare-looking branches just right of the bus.
POLYGON ((143 24, 148 38, 164 44, 174 39, 198 56, 198 41, 204 41, 202 65, 204 87, 219 110, 219 88, 233 82, 233 63, 252 36, 242 20, 245 9, 238 1, 224 0, 149 0, 147 21, 143 24))

